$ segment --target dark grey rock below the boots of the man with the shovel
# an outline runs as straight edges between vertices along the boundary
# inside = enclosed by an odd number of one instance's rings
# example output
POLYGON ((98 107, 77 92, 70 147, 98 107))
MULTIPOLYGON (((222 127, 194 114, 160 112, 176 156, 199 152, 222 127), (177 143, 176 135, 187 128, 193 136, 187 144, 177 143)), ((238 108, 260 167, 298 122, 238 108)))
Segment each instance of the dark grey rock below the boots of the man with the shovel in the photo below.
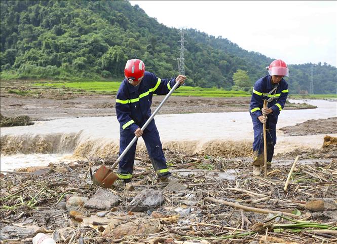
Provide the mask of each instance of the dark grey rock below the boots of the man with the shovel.
POLYGON ((133 212, 146 212, 149 208, 156 208, 161 205, 164 200, 160 191, 145 189, 133 198, 127 209, 133 212))

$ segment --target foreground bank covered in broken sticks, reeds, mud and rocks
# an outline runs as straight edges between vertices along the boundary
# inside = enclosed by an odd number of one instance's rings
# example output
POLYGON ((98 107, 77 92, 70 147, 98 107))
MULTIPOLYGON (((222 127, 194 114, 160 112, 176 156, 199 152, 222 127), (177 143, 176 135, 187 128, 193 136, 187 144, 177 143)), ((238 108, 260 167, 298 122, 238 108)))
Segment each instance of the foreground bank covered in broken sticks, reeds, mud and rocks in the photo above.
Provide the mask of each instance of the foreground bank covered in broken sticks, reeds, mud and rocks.
MULTIPOLYGON (((137 154, 132 187, 95 186, 88 161, 1 177, 1 243, 334 243, 337 162, 297 164, 252 177, 247 159, 166 152, 178 181, 161 183, 137 154), (305 240, 305 241, 304 241, 305 240)), ((90 159, 93 172, 116 159, 90 159)))

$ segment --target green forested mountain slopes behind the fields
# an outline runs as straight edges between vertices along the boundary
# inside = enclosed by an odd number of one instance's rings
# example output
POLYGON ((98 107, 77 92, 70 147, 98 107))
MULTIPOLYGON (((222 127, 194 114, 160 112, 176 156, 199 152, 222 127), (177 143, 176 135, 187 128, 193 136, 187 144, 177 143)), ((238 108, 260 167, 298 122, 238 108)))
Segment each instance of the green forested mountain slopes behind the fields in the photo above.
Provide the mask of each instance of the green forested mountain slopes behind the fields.
MULTIPOLYGON (((187 29, 185 39, 185 73, 192 86, 231 89, 238 69, 247 71, 252 85, 274 59, 195 29, 187 29)), ((127 1, 1 1, 2 79, 122 79, 126 60, 135 57, 157 76, 172 77, 179 41, 179 29, 127 1)), ((292 93, 309 91, 311 69, 314 93, 336 92, 336 67, 289 68, 292 93)))

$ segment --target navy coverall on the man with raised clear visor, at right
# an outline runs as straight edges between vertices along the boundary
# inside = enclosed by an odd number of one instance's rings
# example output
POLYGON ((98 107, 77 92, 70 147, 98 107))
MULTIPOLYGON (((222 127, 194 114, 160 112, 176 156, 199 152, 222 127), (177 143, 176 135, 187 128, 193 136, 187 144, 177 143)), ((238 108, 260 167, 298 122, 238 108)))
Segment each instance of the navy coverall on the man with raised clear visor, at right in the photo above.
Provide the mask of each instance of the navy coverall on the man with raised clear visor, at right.
POLYGON ((272 77, 270 75, 257 80, 254 84, 249 108, 254 129, 253 151, 256 157, 264 153, 263 123, 258 120, 258 117, 262 115, 261 110, 264 106, 264 100, 269 99, 267 107, 273 110, 272 113, 267 115, 266 123, 267 162, 272 162, 273 159, 274 146, 276 144, 277 119, 280 111, 284 108, 288 96, 288 83, 284 79, 279 82, 276 90, 268 95, 275 86, 272 84, 272 77))

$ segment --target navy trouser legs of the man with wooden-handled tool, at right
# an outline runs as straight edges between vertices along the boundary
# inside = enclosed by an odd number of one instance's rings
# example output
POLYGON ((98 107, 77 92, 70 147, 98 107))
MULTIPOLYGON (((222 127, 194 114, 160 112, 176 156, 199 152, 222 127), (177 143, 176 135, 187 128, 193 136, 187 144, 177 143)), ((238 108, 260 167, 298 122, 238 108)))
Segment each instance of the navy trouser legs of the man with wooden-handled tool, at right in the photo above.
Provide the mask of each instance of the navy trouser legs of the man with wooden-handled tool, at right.
MULTIPOLYGON (((264 154, 264 130, 263 124, 257 119, 253 118, 254 129, 254 142, 253 151, 256 152, 256 156, 264 154)), ((267 161, 271 162, 274 155, 274 146, 276 145, 276 123, 277 117, 268 116, 266 123, 267 134, 267 161)))

